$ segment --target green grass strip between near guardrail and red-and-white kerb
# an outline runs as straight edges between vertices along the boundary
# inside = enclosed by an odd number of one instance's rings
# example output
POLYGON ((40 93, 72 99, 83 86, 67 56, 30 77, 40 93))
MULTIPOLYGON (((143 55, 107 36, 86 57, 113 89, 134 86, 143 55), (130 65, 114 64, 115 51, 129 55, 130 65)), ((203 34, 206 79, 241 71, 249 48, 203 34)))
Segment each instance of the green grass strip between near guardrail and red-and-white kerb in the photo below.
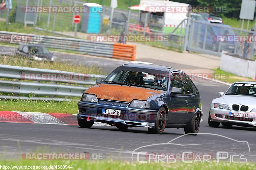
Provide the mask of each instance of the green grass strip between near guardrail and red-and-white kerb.
POLYGON ((52 112, 77 114, 76 98, 70 102, 54 101, 30 101, 30 100, 4 100, 0 99, 1 111, 25 111, 25 112, 52 112))

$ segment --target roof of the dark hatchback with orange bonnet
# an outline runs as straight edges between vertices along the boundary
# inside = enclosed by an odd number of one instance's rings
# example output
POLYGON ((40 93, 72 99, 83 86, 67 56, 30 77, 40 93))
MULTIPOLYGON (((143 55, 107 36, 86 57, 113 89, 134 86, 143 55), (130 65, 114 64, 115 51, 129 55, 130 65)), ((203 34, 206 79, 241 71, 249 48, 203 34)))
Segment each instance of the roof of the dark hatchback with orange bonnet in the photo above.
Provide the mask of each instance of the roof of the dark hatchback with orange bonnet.
POLYGON ((130 64, 124 64, 120 67, 137 67, 137 68, 145 68, 145 69, 152 69, 152 70, 159 70, 159 71, 166 71, 166 72, 173 72, 173 71, 183 72, 181 70, 172 69, 172 67, 169 67, 169 66, 161 66, 161 65, 155 65, 155 64, 144 64, 144 63, 130 63, 130 64))

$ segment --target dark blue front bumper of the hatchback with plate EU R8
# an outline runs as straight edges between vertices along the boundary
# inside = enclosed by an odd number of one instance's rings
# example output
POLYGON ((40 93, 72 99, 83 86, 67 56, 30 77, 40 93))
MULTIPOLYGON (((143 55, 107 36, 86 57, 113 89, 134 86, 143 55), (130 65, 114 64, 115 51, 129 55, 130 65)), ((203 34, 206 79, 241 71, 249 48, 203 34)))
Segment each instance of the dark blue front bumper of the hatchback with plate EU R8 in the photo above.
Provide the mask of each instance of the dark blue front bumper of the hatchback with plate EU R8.
POLYGON ((156 115, 158 110, 136 109, 120 107, 107 104, 88 103, 79 101, 78 119, 87 119, 111 125, 121 124, 135 127, 155 128, 156 115), (120 116, 102 114, 102 108, 121 110, 120 116))

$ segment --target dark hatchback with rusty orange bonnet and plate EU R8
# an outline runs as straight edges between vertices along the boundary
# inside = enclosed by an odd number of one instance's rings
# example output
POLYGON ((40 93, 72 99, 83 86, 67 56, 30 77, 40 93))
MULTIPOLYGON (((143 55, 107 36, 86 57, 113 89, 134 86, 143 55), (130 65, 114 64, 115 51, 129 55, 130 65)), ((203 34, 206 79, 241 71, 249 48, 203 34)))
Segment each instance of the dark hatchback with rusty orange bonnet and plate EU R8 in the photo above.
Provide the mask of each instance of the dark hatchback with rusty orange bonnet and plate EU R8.
POLYGON ((165 128, 184 128, 196 135, 202 117, 201 98, 183 71, 151 64, 124 64, 104 80, 97 79, 78 102, 79 126, 95 121, 118 129, 147 127, 162 134, 165 128))

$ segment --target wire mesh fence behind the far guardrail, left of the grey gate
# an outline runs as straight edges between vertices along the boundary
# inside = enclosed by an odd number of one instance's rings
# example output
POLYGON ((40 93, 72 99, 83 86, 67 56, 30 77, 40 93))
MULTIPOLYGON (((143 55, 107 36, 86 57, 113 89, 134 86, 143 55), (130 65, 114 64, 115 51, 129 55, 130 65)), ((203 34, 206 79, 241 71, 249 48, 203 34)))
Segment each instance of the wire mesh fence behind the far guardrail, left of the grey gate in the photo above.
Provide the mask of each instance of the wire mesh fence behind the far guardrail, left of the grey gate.
MULTIPOLYGON (((76 37, 85 39, 88 35, 95 35, 92 33, 86 33, 86 20, 88 16, 85 13, 25 13, 24 6, 82 6, 83 2, 69 1, 69 0, 18 0, 17 1, 16 21, 26 24, 34 24, 34 28, 41 31, 52 32, 53 34, 62 34, 70 37, 76 37), (81 22, 77 24, 77 33, 75 33, 75 25, 73 17, 75 14, 80 14, 81 22), (25 18, 24 18, 25 17, 25 18), (26 20, 26 22, 25 22, 26 20)), ((101 23, 100 35, 132 35, 132 29, 136 23, 140 24, 142 34, 146 33, 142 31, 145 24, 150 26, 150 36, 153 41, 150 44, 154 46, 174 47, 182 48, 184 41, 184 31, 180 32, 164 32, 163 30, 163 16, 153 16, 143 12, 134 12, 123 9, 114 9, 113 18, 111 20, 111 8, 103 6, 100 13, 101 23), (128 23, 129 19, 129 23, 128 23), (127 26, 128 25, 128 26, 127 26), (130 28, 129 31, 127 28, 130 28), (125 34, 126 33, 126 34, 125 34), (160 35, 168 35, 164 42, 160 42, 156 37, 160 35)), ((185 29, 185 25, 181 25, 180 30, 185 29)), ((174 28, 173 28, 174 29, 174 28)), ((126 43, 126 42, 122 42, 126 43)))

